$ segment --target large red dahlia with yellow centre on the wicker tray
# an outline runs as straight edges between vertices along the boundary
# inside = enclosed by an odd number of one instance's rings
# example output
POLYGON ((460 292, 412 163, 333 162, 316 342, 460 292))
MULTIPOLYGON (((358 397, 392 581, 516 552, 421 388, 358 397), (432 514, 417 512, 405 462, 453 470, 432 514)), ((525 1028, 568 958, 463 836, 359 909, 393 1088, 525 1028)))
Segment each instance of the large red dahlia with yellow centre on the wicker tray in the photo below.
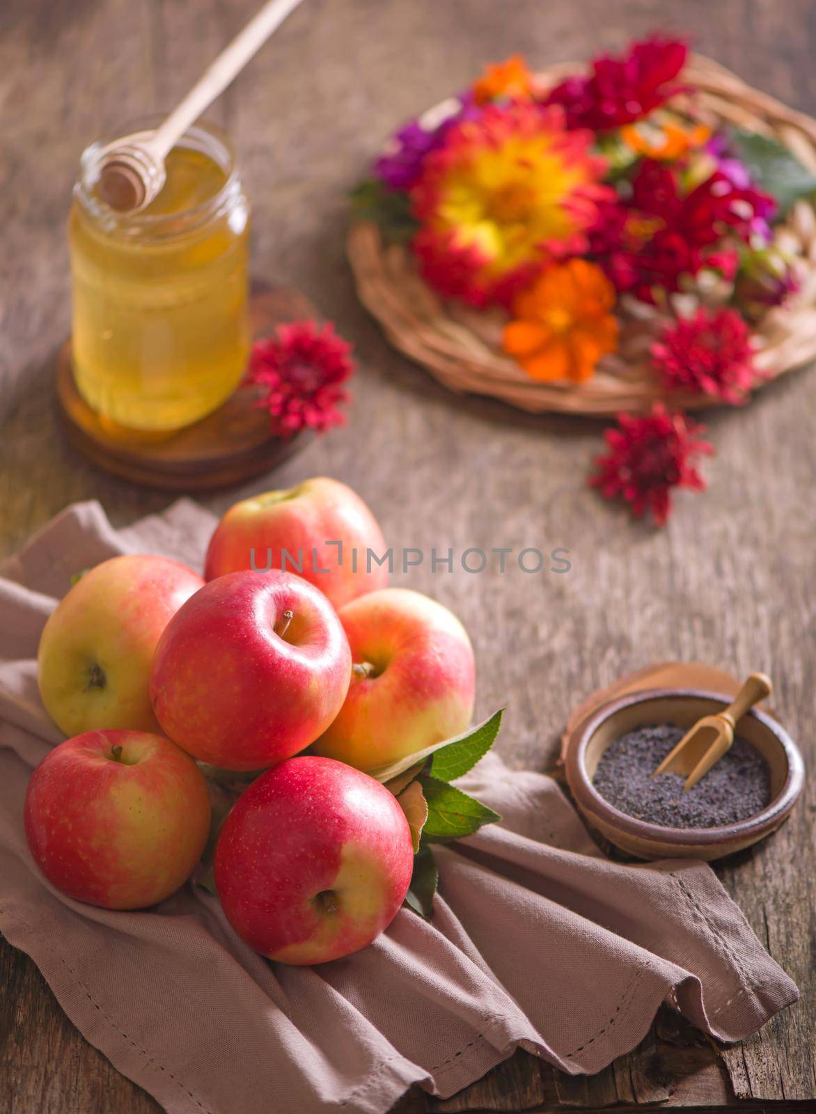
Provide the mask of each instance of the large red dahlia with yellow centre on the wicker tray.
POLYGON ((602 158, 589 131, 567 131, 558 107, 487 106, 453 128, 411 190, 425 277, 474 305, 508 304, 542 263, 580 254, 598 203, 602 158))

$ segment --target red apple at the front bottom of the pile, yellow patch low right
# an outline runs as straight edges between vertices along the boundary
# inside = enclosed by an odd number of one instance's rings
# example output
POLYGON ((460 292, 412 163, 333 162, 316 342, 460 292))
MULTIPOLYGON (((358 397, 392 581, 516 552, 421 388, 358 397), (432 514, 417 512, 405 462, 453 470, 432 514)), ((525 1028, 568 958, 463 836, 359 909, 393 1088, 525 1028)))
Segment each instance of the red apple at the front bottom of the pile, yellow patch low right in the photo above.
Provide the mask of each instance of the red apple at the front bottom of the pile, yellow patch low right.
POLYGON ((242 793, 215 848, 226 918, 261 955, 322 964, 388 927, 414 869, 396 798, 368 774, 302 755, 242 793))

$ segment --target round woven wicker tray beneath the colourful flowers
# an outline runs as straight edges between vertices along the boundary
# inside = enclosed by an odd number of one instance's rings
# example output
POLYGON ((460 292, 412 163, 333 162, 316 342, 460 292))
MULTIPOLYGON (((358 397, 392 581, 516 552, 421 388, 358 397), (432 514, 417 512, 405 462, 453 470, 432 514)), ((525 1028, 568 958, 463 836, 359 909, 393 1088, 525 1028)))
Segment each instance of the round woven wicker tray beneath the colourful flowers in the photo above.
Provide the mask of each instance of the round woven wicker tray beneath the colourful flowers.
MULTIPOLYGON (((545 70, 540 78, 548 87, 580 69, 575 62, 565 62, 545 70)), ((708 58, 693 56, 682 80, 694 90, 696 115, 706 123, 725 123, 774 136, 816 173, 816 120, 752 89, 708 58)), ((765 382, 816 359, 813 205, 797 202, 781 227, 786 246, 803 261, 804 281, 785 306, 770 310, 756 328, 756 363, 765 382)), ((652 306, 622 301, 619 349, 601 361, 586 382, 537 382, 502 351, 506 321, 503 311, 477 312, 440 300, 417 274, 410 250, 383 243, 373 224, 353 224, 347 247, 360 301, 390 342, 454 391, 493 395, 533 412, 595 417, 644 410, 664 394, 648 360, 658 315, 652 306)), ((671 401, 684 409, 699 409, 712 400, 673 393, 671 401)))

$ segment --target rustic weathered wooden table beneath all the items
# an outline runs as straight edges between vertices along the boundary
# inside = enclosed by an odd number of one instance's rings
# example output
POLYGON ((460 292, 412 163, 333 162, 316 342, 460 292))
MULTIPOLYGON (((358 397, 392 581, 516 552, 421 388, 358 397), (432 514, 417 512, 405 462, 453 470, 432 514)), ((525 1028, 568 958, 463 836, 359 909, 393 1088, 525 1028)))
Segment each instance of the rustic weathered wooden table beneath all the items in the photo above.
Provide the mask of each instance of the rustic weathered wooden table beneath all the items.
MULTIPOLYGON (((52 360, 67 331, 64 222, 82 145, 169 106, 256 0, 52 0, 0 6, 0 545, 9 551, 66 504, 99 499, 115 524, 167 497, 107 479, 58 434, 52 360)), ((757 86, 816 111, 809 0, 677 0, 673 30, 757 86)), ((347 429, 264 480, 328 473, 375 508, 397 546, 570 549, 566 576, 414 570, 470 631, 478 713, 508 703, 516 765, 545 768, 569 707, 657 658, 773 674, 775 704, 810 762, 814 695, 816 375, 718 412, 710 488, 683 496, 664 530, 634 525, 584 486, 600 427, 528 418, 447 394, 389 351, 354 301, 343 261, 346 194, 401 119, 463 87, 488 59, 540 63, 618 48, 667 27, 660 0, 307 0, 214 117, 241 152, 254 203, 254 267, 299 285, 357 344, 347 429)), ((256 488, 255 485, 252 486, 256 488)), ((249 488, 247 488, 249 490, 249 488)), ((222 510, 243 491, 207 499, 222 510)), ((398 583, 405 583, 398 579, 398 583)), ((813 1110, 816 779, 766 844, 719 869, 802 1001, 744 1045, 718 1051, 660 1018, 601 1075, 567 1078, 519 1054, 447 1102, 405 1111, 671 1106, 813 1110), (804 1106, 803 1106, 804 1104, 804 1106), (767 1107, 762 1107, 767 1108, 767 1107)), ((156 1104, 86 1044, 20 952, 0 946, 3 1114, 143 1114, 156 1104)))

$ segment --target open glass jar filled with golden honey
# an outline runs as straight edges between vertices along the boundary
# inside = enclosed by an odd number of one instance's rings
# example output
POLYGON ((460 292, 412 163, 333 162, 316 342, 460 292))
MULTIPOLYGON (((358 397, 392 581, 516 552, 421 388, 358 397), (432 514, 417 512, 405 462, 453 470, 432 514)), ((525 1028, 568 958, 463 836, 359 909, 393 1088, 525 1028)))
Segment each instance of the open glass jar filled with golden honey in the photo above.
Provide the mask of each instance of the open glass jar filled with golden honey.
POLYGON ((227 137, 197 124, 158 196, 115 213, 96 192, 109 141, 82 154, 68 221, 74 378, 111 422, 176 430, 216 410, 246 367, 249 204, 227 137))

